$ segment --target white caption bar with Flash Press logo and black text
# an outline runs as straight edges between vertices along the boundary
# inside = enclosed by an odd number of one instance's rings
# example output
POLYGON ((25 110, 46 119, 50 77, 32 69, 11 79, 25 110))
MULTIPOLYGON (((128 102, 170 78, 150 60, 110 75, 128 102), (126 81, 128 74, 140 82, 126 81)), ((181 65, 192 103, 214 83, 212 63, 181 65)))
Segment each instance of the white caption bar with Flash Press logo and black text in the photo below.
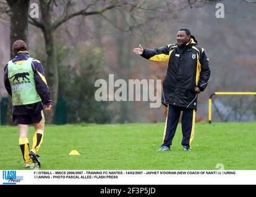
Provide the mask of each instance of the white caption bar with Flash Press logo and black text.
POLYGON ((8 171, 0 184, 40 185, 178 185, 256 183, 256 171, 8 171))

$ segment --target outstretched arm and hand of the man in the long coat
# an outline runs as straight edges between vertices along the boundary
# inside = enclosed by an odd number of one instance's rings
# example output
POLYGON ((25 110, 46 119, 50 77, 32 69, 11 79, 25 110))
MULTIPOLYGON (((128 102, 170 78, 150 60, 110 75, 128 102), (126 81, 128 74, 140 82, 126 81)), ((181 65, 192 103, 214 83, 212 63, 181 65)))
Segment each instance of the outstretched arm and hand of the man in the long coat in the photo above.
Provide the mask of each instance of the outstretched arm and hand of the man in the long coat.
POLYGON ((147 49, 139 45, 139 48, 134 49, 134 54, 141 55, 147 60, 155 62, 168 62, 170 46, 160 47, 157 49, 147 49))

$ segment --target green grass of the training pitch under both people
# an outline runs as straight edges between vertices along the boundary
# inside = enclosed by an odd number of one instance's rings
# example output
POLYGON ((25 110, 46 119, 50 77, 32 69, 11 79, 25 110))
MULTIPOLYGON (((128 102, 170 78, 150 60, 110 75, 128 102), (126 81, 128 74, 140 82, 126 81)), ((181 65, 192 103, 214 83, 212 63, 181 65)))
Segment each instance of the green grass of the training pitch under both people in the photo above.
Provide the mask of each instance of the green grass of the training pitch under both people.
MULTIPOLYGON (((193 150, 181 147, 181 125, 172 150, 156 152, 164 124, 46 126, 41 169, 256 169, 256 123, 196 124, 193 150), (69 156, 77 150, 80 156, 69 156)), ((30 127, 30 146, 33 127, 30 127)), ((23 169, 17 127, 0 127, 0 169, 23 169)))

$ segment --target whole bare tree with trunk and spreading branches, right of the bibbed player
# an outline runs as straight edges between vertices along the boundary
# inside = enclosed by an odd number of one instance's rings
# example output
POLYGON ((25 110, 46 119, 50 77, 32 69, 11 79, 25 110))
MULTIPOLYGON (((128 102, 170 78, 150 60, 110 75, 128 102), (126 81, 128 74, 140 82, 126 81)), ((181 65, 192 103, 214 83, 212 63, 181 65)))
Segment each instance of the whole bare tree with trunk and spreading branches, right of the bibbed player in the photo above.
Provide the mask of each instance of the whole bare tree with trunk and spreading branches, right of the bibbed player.
MULTIPOLYGON (((45 49, 46 49, 46 75, 48 78, 49 88, 51 90, 51 97, 53 99, 53 107, 56 106, 58 99, 58 65, 56 60, 56 44, 55 44, 55 31, 61 26, 63 23, 67 22, 71 18, 82 15, 83 17, 87 17, 89 15, 99 15, 103 14, 107 10, 114 9, 115 7, 121 6, 119 2, 114 3, 102 3, 102 1, 96 0, 91 1, 87 5, 85 5, 82 9, 72 10, 74 9, 74 4, 72 1, 65 1, 63 4, 59 4, 59 6, 63 6, 63 11, 61 16, 53 20, 54 8, 58 7, 56 1, 52 0, 40 0, 40 10, 41 17, 40 20, 36 20, 35 18, 30 17, 30 24, 40 28, 43 32, 43 36, 45 38, 45 49), (98 5, 99 8, 95 7, 98 5), (93 8, 94 9, 93 9, 93 8)), ((54 109, 49 112, 49 122, 52 123, 54 109)))

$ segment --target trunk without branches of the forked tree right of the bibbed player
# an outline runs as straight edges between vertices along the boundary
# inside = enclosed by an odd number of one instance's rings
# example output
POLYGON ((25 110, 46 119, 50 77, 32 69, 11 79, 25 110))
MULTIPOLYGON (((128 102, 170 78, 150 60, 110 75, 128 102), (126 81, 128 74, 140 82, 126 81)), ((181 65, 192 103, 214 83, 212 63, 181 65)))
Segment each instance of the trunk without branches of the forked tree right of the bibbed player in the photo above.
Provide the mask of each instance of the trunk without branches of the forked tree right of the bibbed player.
POLYGON ((46 122, 53 123, 54 111, 58 102, 58 89, 59 89, 59 78, 58 78, 58 65, 56 57, 56 47, 54 41, 54 30, 52 22, 52 4, 48 4, 49 1, 41 0, 41 21, 44 24, 43 35, 45 38, 45 49, 46 49, 46 65, 45 74, 48 81, 48 86, 50 89, 51 99, 53 100, 53 105, 51 111, 46 112, 46 122), (50 7, 49 7, 50 6, 50 7))

